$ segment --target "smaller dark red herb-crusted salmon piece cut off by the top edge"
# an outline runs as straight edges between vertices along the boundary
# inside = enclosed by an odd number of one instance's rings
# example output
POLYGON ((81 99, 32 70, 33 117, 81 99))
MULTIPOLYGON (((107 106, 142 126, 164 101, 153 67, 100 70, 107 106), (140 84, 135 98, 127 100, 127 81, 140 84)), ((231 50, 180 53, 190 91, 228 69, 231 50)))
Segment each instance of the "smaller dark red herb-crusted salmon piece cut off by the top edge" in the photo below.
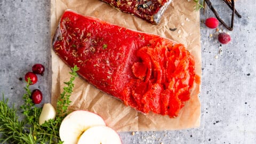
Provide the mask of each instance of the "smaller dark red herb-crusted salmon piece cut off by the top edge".
POLYGON ((172 0, 146 0, 146 1, 117 1, 117 0, 101 0, 115 7, 116 9, 136 15, 137 17, 146 20, 154 25, 157 25, 161 20, 167 7, 172 0))

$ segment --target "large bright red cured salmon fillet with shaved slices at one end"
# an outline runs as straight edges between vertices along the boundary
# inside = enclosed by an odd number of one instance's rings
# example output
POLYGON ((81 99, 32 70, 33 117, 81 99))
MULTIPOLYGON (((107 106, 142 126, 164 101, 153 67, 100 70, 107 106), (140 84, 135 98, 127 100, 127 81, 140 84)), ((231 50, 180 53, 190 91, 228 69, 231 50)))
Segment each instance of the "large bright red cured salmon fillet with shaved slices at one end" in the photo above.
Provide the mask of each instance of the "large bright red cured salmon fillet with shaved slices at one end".
POLYGON ((178 116, 195 83, 182 44, 73 11, 63 13, 52 45, 87 82, 145 114, 178 116))

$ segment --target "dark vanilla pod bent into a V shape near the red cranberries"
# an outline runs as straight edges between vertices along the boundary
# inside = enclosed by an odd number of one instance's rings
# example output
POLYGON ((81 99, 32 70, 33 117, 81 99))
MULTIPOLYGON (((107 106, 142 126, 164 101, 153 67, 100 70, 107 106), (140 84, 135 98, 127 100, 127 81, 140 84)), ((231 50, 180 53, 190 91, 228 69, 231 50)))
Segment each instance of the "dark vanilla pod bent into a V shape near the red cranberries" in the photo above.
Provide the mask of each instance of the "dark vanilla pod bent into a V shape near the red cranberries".
POLYGON ((209 6, 209 8, 212 10, 214 13, 215 17, 222 23, 223 26, 225 26, 228 30, 233 30, 233 25, 234 25, 234 15, 235 15, 235 2, 234 0, 231 0, 231 8, 232 8, 232 17, 231 17, 231 26, 229 27, 219 16, 218 12, 214 9, 212 6, 212 3, 210 0, 205 0, 206 4, 209 6))

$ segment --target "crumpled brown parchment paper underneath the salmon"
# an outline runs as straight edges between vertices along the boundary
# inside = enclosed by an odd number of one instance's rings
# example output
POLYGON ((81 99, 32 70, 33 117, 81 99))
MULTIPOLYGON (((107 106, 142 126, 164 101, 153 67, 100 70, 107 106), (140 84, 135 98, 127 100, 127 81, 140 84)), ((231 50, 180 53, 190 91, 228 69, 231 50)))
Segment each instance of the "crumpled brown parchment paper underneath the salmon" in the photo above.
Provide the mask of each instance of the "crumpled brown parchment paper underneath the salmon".
MULTIPOLYGON (((194 11, 194 2, 173 0, 165 11, 159 25, 151 25, 134 15, 122 13, 106 3, 97 0, 51 0, 51 36, 58 26, 62 13, 71 9, 83 15, 90 15, 115 25, 156 34, 184 44, 194 55, 196 73, 201 76, 201 45, 199 31, 199 12, 194 11), (176 30, 172 31, 171 29, 176 30)), ((69 81, 70 68, 52 50, 52 104, 62 92, 63 82, 69 81)), ((70 110, 84 109, 99 114, 108 126, 116 131, 161 131, 198 127, 200 125, 201 104, 196 84, 191 99, 176 118, 142 114, 123 102, 99 91, 82 78, 76 78, 74 92, 71 95, 70 110)))

